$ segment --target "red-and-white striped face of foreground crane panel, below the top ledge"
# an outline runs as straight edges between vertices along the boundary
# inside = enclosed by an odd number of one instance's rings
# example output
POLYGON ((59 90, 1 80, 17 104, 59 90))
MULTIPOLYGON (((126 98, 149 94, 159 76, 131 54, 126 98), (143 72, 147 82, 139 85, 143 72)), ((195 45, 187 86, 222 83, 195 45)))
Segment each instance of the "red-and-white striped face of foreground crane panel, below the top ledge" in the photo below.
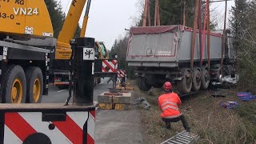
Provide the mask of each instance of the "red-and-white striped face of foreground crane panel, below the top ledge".
POLYGON ((95 111, 66 112, 62 122, 42 122, 42 112, 5 113, 4 144, 27 143, 33 136, 39 138, 39 134, 53 144, 94 144, 95 111))

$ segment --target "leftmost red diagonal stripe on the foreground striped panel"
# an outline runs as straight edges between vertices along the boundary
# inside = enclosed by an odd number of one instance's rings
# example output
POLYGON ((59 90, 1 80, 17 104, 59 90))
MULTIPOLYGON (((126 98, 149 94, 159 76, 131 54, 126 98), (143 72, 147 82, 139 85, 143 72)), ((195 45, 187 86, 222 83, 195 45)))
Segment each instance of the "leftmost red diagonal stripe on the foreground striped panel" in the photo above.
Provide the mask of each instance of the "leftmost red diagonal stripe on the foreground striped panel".
POLYGON ((30 135, 37 133, 36 130, 22 116, 18 113, 6 113, 5 114, 6 121, 5 124, 22 140, 25 139, 30 135))

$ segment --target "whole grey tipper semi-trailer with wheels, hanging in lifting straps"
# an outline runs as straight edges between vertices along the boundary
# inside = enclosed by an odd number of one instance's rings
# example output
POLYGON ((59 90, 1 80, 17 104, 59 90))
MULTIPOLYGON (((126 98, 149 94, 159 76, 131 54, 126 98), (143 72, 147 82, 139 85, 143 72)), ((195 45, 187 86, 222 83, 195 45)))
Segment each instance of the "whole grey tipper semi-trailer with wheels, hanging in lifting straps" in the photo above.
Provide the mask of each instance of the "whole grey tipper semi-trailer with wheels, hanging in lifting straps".
POLYGON ((170 81, 177 84, 179 93, 189 94, 191 90, 206 90, 210 82, 221 82, 224 75, 233 75, 235 51, 230 33, 226 33, 222 48, 222 32, 212 31, 210 50, 207 38, 199 43, 198 31, 196 34, 191 67, 192 28, 180 25, 131 27, 126 61, 128 66, 135 67, 139 89, 160 88, 170 81), (200 44, 203 44, 202 49, 200 44))

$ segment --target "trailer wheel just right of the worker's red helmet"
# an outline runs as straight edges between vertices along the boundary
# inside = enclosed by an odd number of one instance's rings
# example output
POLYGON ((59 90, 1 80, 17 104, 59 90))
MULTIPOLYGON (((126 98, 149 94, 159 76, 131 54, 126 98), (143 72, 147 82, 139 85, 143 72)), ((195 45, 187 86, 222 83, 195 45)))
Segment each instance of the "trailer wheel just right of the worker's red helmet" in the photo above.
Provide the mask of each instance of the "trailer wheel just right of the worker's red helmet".
POLYGON ((192 74, 190 70, 185 70, 184 72, 184 78, 178 81, 177 88, 180 93, 189 94, 192 89, 192 74))

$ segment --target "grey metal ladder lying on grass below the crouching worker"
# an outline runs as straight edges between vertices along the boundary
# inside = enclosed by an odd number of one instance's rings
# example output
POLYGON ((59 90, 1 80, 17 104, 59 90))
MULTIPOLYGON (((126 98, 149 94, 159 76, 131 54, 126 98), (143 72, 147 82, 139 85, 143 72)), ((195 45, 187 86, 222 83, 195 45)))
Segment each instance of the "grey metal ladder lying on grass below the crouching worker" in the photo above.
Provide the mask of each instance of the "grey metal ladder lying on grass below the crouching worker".
POLYGON ((186 132, 186 130, 181 133, 176 134, 174 137, 162 142, 161 144, 191 144, 199 138, 196 134, 191 134, 186 132))

